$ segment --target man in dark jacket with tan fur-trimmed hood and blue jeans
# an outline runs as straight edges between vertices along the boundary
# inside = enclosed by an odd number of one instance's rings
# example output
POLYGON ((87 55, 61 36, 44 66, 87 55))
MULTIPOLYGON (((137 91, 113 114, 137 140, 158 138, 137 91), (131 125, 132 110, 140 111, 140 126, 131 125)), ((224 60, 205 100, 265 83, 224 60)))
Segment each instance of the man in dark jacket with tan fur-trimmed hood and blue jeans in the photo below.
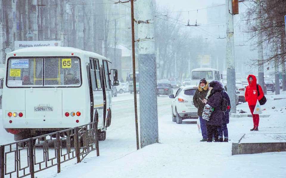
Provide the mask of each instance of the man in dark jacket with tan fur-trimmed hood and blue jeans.
POLYGON ((201 101, 204 98, 206 98, 206 94, 209 91, 208 82, 206 79, 200 80, 200 84, 198 86, 198 89, 196 90, 196 93, 193 97, 193 103, 196 108, 198 108, 198 116, 200 119, 200 129, 202 131, 203 139, 200 140, 200 142, 206 142, 208 140, 208 133, 206 129, 206 120, 202 118, 203 108, 205 107, 205 104, 201 101))

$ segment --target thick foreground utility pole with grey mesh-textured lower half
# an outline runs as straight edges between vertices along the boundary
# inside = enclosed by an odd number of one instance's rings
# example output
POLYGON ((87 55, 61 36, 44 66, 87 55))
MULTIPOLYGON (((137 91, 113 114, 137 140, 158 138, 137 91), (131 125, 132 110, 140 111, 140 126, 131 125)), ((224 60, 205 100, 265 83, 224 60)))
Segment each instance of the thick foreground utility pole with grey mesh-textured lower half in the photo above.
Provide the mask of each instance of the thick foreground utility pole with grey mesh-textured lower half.
POLYGON ((158 143, 153 0, 137 1, 141 147, 158 143))

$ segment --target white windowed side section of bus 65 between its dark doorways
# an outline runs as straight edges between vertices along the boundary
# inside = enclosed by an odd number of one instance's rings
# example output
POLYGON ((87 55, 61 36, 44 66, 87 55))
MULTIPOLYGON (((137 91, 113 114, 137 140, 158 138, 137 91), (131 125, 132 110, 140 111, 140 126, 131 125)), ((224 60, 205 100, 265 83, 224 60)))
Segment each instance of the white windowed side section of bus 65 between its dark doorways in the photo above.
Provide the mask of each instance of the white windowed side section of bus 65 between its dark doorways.
POLYGON ((92 110, 93 110, 93 117, 95 116, 95 112, 98 113, 98 128, 102 128, 104 126, 104 99, 103 99, 103 92, 102 92, 102 75, 100 75, 100 66, 99 60, 94 58, 89 58, 89 72, 90 72, 90 82, 91 82, 91 90, 92 90, 92 99, 93 103, 92 110))

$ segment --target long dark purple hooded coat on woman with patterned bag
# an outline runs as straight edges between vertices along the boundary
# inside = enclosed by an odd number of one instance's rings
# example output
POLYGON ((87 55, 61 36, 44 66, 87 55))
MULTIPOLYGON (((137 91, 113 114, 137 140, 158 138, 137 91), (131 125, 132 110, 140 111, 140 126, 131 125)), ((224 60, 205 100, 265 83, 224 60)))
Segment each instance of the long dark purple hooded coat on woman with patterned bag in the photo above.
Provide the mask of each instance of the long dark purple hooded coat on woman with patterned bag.
POLYGON ((223 112, 221 111, 221 100, 222 100, 223 85, 219 81, 216 81, 216 80, 212 82, 215 82, 215 86, 211 90, 211 93, 207 99, 208 102, 206 104, 209 104, 212 108, 214 108, 214 111, 212 112, 211 118, 207 122, 207 124, 222 126, 223 125, 223 112))

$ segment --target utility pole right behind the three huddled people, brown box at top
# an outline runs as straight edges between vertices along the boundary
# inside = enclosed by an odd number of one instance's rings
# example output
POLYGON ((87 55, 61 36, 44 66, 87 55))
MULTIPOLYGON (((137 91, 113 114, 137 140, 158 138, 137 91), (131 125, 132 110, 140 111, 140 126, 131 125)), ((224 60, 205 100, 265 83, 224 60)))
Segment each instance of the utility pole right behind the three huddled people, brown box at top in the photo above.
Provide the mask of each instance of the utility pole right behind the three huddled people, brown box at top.
POLYGON ((236 113, 234 27, 231 0, 226 0, 226 66, 227 93, 229 95, 231 104, 230 112, 236 113))

